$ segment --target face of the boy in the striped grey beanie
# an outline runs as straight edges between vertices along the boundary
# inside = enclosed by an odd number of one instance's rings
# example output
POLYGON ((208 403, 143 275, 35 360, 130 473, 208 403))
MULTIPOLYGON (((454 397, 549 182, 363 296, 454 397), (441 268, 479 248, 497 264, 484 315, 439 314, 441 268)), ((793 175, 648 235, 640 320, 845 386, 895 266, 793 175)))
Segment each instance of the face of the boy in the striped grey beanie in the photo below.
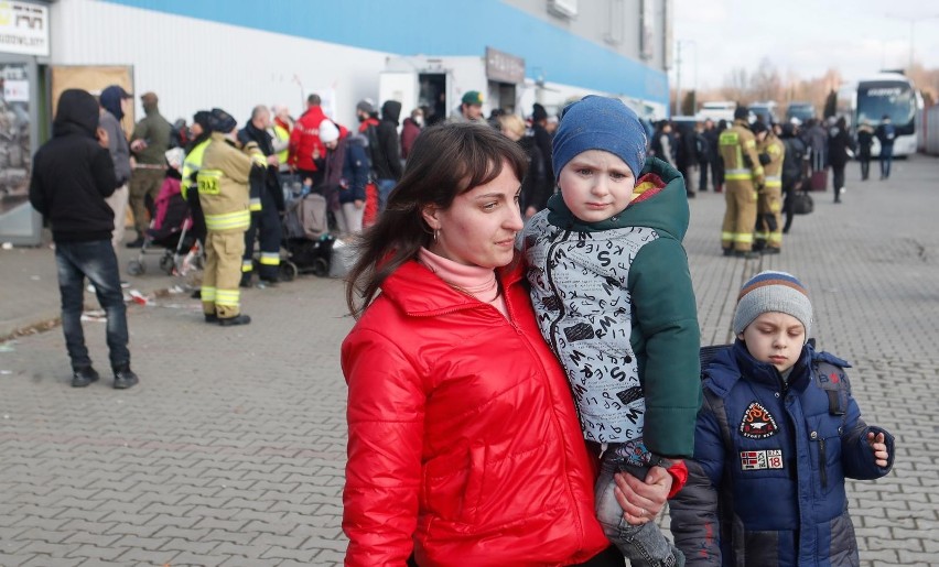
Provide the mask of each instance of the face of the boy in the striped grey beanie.
POLYGON ((796 317, 785 313, 764 313, 738 337, 756 360, 768 362, 779 372, 796 364, 806 344, 806 328, 796 317))

